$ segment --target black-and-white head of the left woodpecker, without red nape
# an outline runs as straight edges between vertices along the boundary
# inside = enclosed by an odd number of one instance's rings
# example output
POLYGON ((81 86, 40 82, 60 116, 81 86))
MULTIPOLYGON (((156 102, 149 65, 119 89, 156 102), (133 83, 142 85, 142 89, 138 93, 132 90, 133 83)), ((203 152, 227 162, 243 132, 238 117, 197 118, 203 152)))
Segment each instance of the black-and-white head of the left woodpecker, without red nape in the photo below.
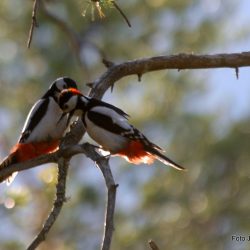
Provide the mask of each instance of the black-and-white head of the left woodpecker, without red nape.
POLYGON ((49 87, 49 90, 42 98, 53 97, 58 102, 59 95, 62 90, 74 88, 77 89, 76 82, 69 77, 57 78, 49 87))

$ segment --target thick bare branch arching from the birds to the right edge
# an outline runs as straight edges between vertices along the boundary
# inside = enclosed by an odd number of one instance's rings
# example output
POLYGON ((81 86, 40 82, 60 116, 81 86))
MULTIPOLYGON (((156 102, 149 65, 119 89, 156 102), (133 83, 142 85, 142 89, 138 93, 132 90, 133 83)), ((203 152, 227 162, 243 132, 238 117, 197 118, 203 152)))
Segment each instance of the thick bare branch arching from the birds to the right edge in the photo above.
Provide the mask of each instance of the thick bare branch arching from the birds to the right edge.
POLYGON ((179 54, 137 59, 120 64, 114 64, 98 78, 94 84, 91 96, 101 98, 105 91, 124 76, 138 75, 150 71, 164 69, 208 69, 208 68, 240 68, 250 66, 250 52, 215 55, 179 54))

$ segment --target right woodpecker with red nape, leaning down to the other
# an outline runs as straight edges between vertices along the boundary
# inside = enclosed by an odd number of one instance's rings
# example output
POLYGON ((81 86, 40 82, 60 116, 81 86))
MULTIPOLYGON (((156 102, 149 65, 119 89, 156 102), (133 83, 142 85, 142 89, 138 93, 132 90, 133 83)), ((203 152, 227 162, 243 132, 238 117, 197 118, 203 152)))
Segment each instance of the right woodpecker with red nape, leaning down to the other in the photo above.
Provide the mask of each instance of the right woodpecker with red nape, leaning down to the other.
POLYGON ((129 124, 128 114, 121 109, 82 95, 76 89, 63 90, 59 105, 64 115, 74 113, 81 116, 89 136, 110 154, 119 155, 134 164, 151 164, 157 159, 178 170, 185 169, 163 155, 159 146, 129 124))

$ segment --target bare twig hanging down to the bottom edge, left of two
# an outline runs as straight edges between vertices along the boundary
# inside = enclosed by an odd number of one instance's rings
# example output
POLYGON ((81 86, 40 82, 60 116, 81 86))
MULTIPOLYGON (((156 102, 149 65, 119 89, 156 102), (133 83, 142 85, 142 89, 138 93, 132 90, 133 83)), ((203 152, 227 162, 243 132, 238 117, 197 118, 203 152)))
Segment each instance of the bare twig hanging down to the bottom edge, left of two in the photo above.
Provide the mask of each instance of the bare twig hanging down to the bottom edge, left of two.
POLYGON ((53 209, 50 212, 46 222, 43 225, 42 230, 27 248, 27 250, 36 249, 42 241, 45 240, 49 230, 54 225, 61 209, 63 203, 66 201, 65 197, 65 189, 66 189, 66 180, 67 180, 67 172, 68 172, 69 160, 60 158, 58 160, 58 182, 56 186, 56 199, 54 201, 53 209))

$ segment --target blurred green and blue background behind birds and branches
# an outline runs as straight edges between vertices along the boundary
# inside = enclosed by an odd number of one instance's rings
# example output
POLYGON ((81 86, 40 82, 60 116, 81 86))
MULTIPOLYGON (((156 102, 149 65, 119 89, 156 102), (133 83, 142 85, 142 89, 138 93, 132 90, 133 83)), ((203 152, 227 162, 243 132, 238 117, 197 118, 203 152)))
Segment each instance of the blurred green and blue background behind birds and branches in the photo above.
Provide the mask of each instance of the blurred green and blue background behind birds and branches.
MULTIPOLYGON (((113 62, 176 53, 248 51, 248 0, 119 1, 132 28, 114 8, 106 18, 91 14, 87 1, 46 1, 81 46, 38 11, 31 49, 26 41, 32 1, 0 2, 0 156, 15 144, 31 105, 59 76, 85 83, 113 62), (88 7, 88 8, 87 8, 88 7), (82 13, 86 10, 86 16, 82 13), (76 48, 76 47, 75 47, 76 48), (79 60, 81 63, 79 63, 79 60)), ((232 235, 250 235, 250 72, 240 69, 166 70, 123 78, 104 100, 131 115, 131 123, 188 168, 132 166, 110 160, 117 193, 112 249, 250 249, 232 235)), ((85 138, 84 138, 85 139, 85 138)), ((20 173, 0 185, 0 249, 24 249, 39 231, 53 203, 56 166, 20 173)), ((69 201, 39 249, 99 249, 105 210, 104 180, 84 155, 71 160, 69 201)))

